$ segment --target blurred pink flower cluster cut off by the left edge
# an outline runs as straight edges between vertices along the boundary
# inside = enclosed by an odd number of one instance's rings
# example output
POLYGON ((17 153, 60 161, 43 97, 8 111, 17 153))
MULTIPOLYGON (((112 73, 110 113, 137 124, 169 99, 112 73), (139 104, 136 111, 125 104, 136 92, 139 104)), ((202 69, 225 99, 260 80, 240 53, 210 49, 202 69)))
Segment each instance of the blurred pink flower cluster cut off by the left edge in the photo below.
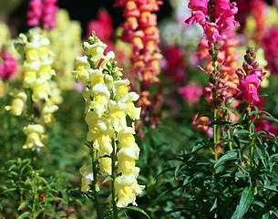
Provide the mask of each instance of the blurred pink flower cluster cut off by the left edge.
POLYGON ((0 78, 4 81, 14 77, 17 68, 17 61, 6 51, 0 53, 3 63, 0 63, 0 78))

